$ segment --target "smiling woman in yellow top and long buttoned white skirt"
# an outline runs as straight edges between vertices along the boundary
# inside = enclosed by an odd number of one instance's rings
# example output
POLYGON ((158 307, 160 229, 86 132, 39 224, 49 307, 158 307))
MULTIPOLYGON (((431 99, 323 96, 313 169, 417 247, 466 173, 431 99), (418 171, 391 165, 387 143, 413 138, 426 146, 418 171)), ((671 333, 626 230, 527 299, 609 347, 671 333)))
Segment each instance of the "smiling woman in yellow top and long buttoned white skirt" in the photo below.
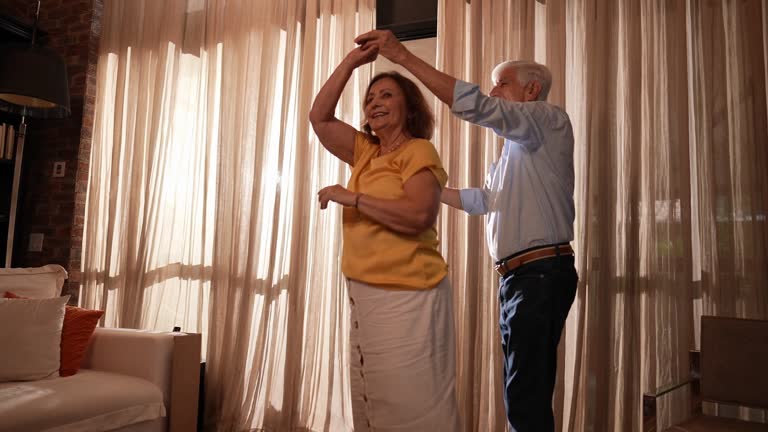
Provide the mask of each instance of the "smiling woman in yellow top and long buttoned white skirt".
POLYGON ((352 167, 347 187, 326 187, 319 200, 344 206, 355 432, 457 431, 451 289, 435 229, 447 175, 428 141, 434 118, 418 87, 392 72, 368 85, 363 132, 334 117, 352 72, 377 54, 352 50, 310 113, 323 146, 352 167))

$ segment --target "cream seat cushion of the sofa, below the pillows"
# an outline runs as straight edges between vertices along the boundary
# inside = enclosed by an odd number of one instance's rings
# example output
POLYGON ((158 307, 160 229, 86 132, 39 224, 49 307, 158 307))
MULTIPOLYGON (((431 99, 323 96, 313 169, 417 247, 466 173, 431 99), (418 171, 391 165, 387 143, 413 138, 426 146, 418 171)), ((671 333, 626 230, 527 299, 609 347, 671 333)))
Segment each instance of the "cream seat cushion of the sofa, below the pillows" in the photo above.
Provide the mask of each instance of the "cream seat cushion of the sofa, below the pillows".
POLYGON ((0 384, 0 432, 106 431, 165 417, 147 380, 82 369, 77 375, 0 384))

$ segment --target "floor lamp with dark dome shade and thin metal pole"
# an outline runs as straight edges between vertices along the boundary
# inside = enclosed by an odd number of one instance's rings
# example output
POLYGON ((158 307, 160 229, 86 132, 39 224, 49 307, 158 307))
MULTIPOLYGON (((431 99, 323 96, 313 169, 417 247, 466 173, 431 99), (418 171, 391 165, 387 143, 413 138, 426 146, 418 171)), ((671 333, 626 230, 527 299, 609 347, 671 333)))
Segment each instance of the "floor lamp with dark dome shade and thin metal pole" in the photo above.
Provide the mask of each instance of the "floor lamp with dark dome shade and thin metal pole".
POLYGON ((39 15, 38 1, 31 43, 0 45, 0 110, 21 115, 16 136, 5 267, 11 266, 13 256, 26 118, 61 118, 70 114, 69 82, 64 60, 53 50, 35 45, 39 15))

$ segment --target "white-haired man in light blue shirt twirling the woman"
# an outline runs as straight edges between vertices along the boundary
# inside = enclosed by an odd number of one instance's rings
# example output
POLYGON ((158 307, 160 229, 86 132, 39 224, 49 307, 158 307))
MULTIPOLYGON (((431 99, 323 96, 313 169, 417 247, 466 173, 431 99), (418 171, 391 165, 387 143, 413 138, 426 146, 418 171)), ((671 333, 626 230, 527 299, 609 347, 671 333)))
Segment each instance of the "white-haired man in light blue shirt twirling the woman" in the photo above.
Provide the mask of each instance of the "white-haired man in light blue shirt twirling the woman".
POLYGON ((410 53, 389 31, 355 42, 413 73, 459 118, 504 138, 482 188, 445 188, 442 201, 486 215, 486 237, 499 289, 504 405, 512 430, 553 431, 557 345, 576 294, 573 250, 573 131, 568 115, 546 102, 552 78, 533 62, 493 71, 489 96, 410 53))

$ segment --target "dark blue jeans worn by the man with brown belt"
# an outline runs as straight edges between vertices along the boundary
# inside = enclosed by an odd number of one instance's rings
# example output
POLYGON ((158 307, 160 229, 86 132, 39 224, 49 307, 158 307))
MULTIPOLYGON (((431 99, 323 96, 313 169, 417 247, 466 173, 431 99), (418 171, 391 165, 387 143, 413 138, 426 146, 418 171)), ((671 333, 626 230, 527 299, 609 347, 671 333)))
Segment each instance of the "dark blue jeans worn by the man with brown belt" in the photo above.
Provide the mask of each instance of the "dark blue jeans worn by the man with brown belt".
POLYGON ((504 408, 514 432, 552 432, 557 344, 576 295, 573 256, 522 265, 499 282, 504 408))

